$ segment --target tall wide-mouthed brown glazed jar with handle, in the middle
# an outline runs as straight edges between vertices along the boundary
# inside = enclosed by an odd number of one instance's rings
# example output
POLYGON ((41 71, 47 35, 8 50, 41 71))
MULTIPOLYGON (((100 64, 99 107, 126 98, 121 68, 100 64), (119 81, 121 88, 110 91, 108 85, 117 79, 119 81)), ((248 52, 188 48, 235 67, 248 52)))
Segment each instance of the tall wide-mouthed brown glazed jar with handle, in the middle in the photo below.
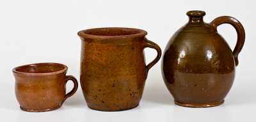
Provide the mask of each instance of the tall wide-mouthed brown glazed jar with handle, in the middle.
POLYGON ((81 87, 88 107, 122 111, 139 105, 148 70, 161 57, 147 32, 131 28, 98 28, 78 32, 82 39, 81 87), (145 65, 144 48, 157 50, 145 65))

